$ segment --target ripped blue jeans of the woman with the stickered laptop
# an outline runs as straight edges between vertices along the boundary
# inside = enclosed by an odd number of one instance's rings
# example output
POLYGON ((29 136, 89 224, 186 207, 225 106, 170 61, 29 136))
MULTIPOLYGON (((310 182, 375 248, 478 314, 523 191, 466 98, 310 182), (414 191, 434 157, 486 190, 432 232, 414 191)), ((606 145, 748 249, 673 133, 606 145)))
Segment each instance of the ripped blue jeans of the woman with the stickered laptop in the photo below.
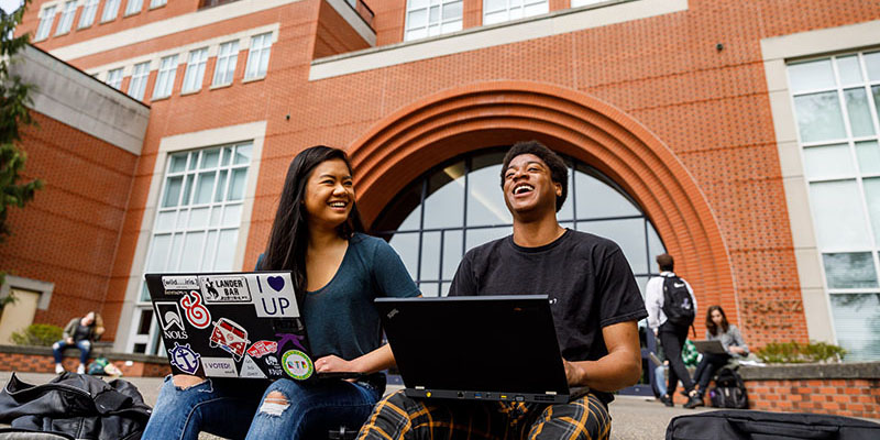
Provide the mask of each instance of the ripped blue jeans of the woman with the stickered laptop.
POLYGON ((360 382, 265 384, 207 380, 180 389, 168 376, 143 439, 196 440, 200 431, 230 439, 323 439, 341 425, 360 428, 382 397, 380 389, 360 382), (263 403, 272 392, 282 393, 287 405, 263 403))

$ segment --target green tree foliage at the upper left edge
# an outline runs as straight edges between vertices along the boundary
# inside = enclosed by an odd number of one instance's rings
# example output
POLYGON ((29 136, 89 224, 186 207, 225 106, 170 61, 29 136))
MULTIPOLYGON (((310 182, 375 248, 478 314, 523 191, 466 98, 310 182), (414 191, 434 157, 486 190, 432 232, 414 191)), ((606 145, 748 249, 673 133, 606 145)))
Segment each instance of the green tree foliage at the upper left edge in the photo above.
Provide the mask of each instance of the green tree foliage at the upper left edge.
POLYGON ((7 226, 9 207, 23 208, 34 198, 34 191, 43 187, 40 179, 20 182, 28 156, 16 143, 21 141, 20 127, 34 123, 26 107, 31 102, 29 92, 34 86, 10 73, 10 65, 16 61, 15 54, 30 41, 28 34, 18 37, 13 34, 30 1, 25 0, 11 14, 0 10, 0 242, 10 234, 7 226))

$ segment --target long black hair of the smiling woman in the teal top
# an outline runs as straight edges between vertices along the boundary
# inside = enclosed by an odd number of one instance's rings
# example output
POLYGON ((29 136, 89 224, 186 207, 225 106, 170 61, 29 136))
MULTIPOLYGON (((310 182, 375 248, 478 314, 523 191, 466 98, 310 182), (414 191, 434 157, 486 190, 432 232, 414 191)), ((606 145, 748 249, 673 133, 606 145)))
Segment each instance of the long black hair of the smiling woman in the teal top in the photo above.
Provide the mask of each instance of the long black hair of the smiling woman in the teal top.
MULTIPOLYGON (((344 162, 351 173, 351 163, 345 152, 324 145, 306 148, 290 162, 266 252, 260 264, 261 271, 292 271, 297 300, 300 302, 306 294, 306 251, 309 241, 305 204, 306 183, 315 167, 337 158, 344 162)), ((351 200, 351 204, 349 219, 337 228, 339 237, 345 240, 351 239, 354 232, 364 231, 358 205, 354 200, 351 200)))

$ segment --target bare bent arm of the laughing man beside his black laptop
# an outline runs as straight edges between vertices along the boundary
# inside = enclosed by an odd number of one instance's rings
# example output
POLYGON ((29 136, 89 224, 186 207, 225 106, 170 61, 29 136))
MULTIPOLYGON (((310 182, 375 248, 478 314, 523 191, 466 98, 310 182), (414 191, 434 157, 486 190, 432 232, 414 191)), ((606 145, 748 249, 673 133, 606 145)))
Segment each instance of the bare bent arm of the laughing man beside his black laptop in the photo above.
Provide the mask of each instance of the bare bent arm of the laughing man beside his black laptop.
POLYGON ((604 327, 602 337, 608 354, 598 361, 564 362, 569 385, 616 392, 638 382, 641 376, 641 348, 637 321, 604 327))

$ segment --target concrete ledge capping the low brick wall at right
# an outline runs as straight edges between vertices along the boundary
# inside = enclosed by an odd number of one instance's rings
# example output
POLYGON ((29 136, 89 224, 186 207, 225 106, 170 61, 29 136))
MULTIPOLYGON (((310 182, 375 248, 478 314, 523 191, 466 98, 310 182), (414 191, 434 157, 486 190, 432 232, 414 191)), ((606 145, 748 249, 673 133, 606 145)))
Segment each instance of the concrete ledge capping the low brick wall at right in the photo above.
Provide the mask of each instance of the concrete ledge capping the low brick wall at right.
POLYGON ((739 375, 745 382, 824 378, 876 380, 880 378, 880 362, 741 366, 739 375))

